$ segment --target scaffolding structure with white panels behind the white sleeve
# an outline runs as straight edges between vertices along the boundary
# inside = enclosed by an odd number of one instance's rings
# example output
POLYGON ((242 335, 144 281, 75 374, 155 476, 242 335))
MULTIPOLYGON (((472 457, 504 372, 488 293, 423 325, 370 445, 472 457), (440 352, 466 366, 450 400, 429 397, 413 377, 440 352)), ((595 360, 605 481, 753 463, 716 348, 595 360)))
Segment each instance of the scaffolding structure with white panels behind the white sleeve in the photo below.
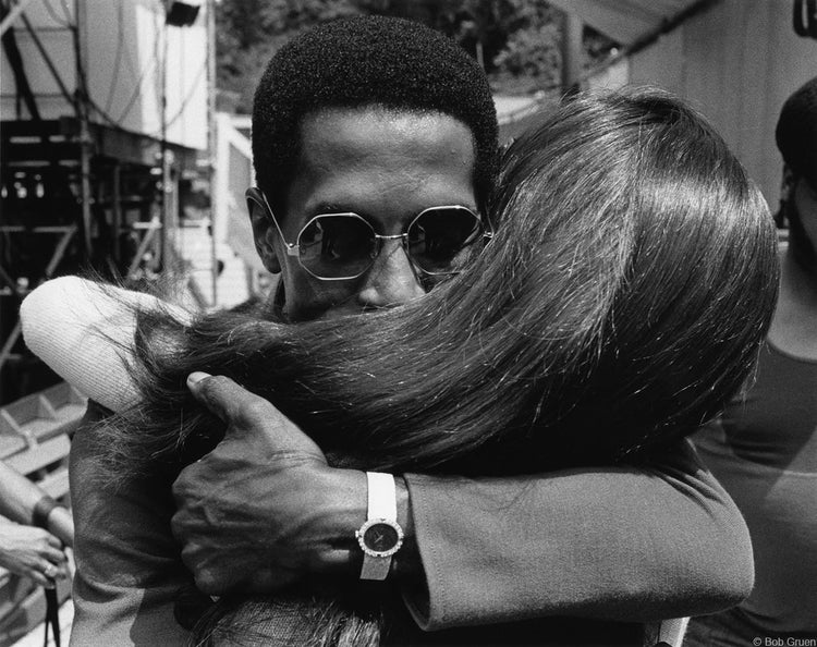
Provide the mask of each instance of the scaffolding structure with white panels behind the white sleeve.
MULTIPOLYGON (((2 405, 56 379, 17 321, 40 282, 185 274, 176 232, 186 196, 209 193, 215 73, 209 2, 0 1, 2 405)), ((200 305, 215 285, 192 291, 200 305)))

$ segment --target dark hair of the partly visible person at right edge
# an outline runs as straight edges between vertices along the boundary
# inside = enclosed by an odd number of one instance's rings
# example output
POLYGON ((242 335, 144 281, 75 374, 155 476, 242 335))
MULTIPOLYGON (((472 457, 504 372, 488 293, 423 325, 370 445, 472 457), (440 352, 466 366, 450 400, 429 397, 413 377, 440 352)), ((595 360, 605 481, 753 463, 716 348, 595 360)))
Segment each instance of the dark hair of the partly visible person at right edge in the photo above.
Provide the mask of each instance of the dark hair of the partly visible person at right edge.
POLYGON ((817 77, 783 103, 775 138, 786 166, 817 187, 817 77))

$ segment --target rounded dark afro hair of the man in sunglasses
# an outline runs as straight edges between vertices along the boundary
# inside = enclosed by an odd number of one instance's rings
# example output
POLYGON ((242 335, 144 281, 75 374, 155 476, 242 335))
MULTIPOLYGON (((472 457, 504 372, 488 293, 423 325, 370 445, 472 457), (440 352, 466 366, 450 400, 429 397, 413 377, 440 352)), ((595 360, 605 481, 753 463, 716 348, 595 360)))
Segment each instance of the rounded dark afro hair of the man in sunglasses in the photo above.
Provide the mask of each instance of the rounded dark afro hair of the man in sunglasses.
POLYGON ((253 105, 256 183, 272 208, 285 196, 301 146, 301 122, 321 108, 381 106, 442 112, 473 133, 480 208, 492 188, 498 123, 488 80, 456 42, 419 23, 355 16, 301 34, 270 60, 253 105))

